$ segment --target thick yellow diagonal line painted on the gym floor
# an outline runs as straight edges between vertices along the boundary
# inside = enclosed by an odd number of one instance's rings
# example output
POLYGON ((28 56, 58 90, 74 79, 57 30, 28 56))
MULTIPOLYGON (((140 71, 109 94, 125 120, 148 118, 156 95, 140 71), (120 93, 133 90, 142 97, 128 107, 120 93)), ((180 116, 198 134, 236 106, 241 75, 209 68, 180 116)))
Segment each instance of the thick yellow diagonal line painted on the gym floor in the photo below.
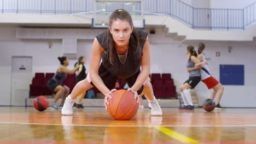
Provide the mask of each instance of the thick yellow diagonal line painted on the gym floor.
POLYGON ((154 127, 154 128, 156 128, 159 131, 161 131, 162 133, 172 137, 173 139, 178 140, 178 141, 183 142, 183 143, 200 143, 197 140, 194 140, 194 139, 192 139, 188 136, 179 134, 176 131, 173 131, 173 130, 168 129, 166 127, 154 127))

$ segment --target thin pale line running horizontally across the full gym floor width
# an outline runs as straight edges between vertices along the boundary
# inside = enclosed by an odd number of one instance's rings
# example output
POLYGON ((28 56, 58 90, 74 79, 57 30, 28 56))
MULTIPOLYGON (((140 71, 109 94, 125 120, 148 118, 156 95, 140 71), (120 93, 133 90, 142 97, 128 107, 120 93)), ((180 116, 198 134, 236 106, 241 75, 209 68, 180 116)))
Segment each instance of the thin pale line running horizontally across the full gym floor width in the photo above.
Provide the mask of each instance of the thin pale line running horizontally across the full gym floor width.
POLYGON ((256 125, 94 125, 94 124, 54 124, 54 123, 22 123, 0 122, 0 124, 34 124, 34 125, 69 125, 83 127, 256 127, 256 125))

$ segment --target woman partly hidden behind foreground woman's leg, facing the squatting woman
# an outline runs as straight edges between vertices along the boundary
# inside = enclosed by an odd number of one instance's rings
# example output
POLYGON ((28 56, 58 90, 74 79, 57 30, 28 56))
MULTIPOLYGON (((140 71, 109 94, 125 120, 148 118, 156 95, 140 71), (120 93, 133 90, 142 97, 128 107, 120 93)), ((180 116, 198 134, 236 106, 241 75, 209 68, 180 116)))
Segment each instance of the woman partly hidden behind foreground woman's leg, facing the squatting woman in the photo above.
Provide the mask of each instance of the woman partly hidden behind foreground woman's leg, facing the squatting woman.
MULTIPOLYGON (((78 62, 75 63, 75 67, 77 65, 79 65, 79 69, 75 72, 75 82, 78 83, 79 81, 82 81, 85 79, 86 77, 86 68, 84 67, 84 64, 85 64, 85 57, 84 56, 81 56, 78 58, 78 62)), ((86 92, 82 93, 81 95, 79 95, 77 97, 77 100, 75 100, 75 103, 74 103, 74 106, 77 107, 78 109, 84 109, 84 106, 82 105, 82 101, 84 99, 84 95, 85 95, 86 92)))

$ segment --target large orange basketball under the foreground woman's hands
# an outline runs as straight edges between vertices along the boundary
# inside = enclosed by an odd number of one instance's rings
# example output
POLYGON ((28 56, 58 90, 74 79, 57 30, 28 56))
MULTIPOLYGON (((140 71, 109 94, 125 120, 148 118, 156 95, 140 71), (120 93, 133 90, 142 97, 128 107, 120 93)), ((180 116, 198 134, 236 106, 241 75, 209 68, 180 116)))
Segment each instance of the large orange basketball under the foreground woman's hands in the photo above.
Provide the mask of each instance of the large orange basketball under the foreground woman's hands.
POLYGON ((116 120, 132 119, 137 111, 138 106, 134 94, 125 89, 120 89, 111 94, 112 99, 108 99, 108 113, 116 120))

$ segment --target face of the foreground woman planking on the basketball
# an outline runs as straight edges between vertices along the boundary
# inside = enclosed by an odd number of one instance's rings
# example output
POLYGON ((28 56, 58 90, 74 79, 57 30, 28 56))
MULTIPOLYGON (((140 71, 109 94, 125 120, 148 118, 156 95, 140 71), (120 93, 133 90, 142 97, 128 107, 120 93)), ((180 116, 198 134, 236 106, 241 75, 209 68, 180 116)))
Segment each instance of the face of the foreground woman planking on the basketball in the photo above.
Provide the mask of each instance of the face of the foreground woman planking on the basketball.
POLYGON ((125 47, 129 44, 133 27, 128 21, 119 19, 113 20, 112 26, 110 26, 109 29, 114 38, 115 46, 125 47))

